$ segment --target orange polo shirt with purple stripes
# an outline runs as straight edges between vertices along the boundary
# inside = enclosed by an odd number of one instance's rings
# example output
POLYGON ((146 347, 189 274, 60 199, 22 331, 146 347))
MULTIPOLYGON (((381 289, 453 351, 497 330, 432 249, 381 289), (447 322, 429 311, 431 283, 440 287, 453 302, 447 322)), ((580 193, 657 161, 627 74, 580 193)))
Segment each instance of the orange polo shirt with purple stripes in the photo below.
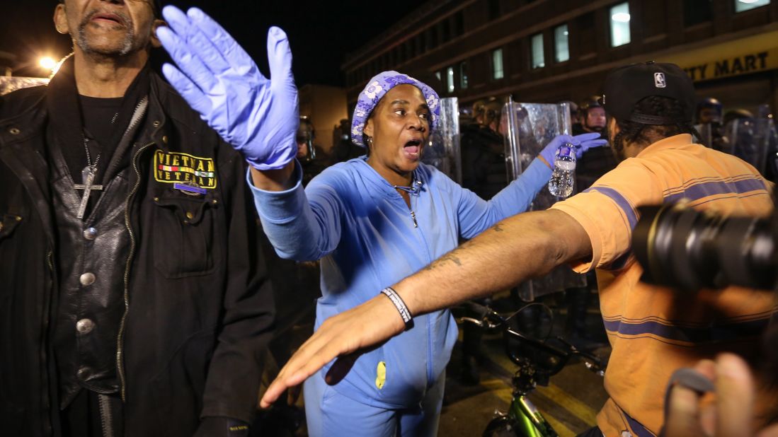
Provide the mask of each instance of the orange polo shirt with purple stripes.
POLYGON ((741 159, 675 135, 626 159, 587 191, 552 206, 571 215, 591 239, 601 313, 612 345, 605 373, 610 399, 598 414, 608 437, 656 435, 672 372, 720 351, 752 352, 776 312, 773 293, 730 287, 678 292, 640 282, 630 252, 636 207, 686 199, 724 215, 769 215, 773 185, 741 159))

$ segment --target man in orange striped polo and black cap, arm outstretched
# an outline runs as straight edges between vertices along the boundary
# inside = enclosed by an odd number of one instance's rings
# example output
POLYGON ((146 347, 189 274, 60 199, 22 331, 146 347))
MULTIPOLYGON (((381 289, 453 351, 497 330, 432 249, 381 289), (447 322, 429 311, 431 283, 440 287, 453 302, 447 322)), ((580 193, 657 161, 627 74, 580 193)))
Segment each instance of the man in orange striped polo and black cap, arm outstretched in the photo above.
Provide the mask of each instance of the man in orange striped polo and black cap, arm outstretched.
MULTIPOLYGON (((559 264, 580 272, 596 268, 613 352, 605 374, 610 399, 590 433, 657 435, 671 374, 721 351, 753 355, 776 302, 771 293, 744 288, 693 294, 640 282, 642 269, 631 248, 636 207, 685 199, 719 214, 768 215, 773 185, 741 159, 692 142, 694 88, 677 65, 619 68, 606 79, 604 100, 612 115, 608 136, 622 161, 615 170, 548 211, 499 222, 392 288, 415 316, 508 288, 559 264)), ((405 329, 396 305, 378 295, 327 320, 282 369, 263 404, 333 358, 349 355, 329 372, 328 382, 336 383, 355 352, 405 329)), ((773 402, 760 407, 768 410, 773 402)))

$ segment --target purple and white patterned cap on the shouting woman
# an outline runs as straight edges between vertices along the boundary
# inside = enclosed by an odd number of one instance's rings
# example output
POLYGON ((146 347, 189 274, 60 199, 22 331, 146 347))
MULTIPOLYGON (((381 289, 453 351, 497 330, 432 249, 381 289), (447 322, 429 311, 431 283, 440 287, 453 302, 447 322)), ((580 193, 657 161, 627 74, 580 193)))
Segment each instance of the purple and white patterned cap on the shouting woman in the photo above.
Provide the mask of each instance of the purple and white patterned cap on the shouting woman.
POLYGON ((404 83, 415 86, 422 91, 430 112, 429 131, 433 130, 440 116, 440 97, 438 97, 435 90, 409 75, 391 71, 383 72, 373 76, 373 79, 367 82, 367 86, 362 90, 362 93, 359 93, 359 99, 356 100, 356 107, 354 108, 354 117, 352 117, 351 121, 351 142, 360 147, 365 147, 362 141, 363 130, 365 129, 367 118, 373 112, 373 108, 377 106, 378 102, 384 98, 384 95, 390 89, 404 83))

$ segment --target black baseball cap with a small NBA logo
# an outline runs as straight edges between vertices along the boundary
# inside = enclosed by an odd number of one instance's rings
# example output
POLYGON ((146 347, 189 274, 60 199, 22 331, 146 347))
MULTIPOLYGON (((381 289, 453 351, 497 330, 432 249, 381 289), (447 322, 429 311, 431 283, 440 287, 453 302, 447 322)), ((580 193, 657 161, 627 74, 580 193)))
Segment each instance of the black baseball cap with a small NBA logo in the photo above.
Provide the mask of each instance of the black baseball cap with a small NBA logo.
POLYGON ((605 77, 605 111, 616 120, 640 124, 677 124, 692 121, 696 107, 694 84, 675 64, 654 61, 616 68, 605 77), (674 120, 655 114, 635 112, 635 104, 650 96, 663 96, 685 105, 684 119, 674 120))

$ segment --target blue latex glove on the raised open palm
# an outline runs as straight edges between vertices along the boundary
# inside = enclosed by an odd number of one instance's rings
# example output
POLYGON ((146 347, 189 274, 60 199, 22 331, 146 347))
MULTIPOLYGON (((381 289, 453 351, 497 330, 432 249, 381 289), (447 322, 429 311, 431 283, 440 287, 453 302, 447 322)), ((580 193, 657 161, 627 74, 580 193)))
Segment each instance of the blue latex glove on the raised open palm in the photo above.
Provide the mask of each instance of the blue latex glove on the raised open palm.
POLYGON ((258 170, 280 169, 297 154, 297 88, 286 33, 268 31, 268 80, 229 33, 200 9, 162 10, 156 34, 178 68, 162 72, 190 106, 258 170), (179 69, 180 68, 180 69, 179 69))

